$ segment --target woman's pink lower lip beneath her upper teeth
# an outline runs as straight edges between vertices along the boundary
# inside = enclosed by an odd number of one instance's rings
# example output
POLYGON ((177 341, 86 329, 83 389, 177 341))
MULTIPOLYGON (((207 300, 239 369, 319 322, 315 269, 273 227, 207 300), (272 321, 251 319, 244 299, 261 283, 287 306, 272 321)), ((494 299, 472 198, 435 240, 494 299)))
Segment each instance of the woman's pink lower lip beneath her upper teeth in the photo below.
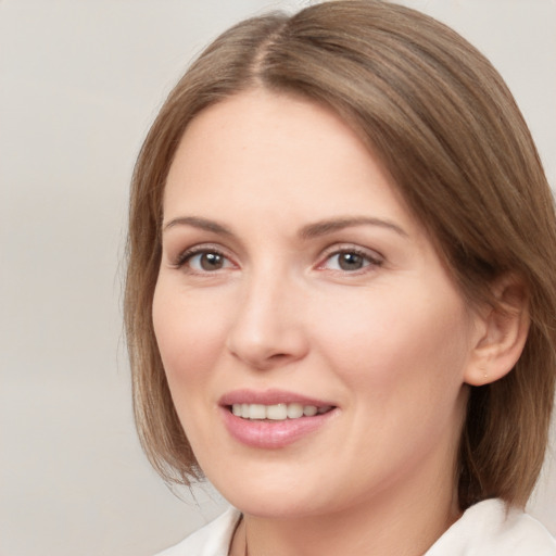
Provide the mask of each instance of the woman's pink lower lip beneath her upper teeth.
POLYGON ((285 447, 302 440, 323 427, 336 409, 299 419, 251 420, 233 415, 228 407, 220 407, 224 422, 231 437, 242 444, 261 448, 285 447))

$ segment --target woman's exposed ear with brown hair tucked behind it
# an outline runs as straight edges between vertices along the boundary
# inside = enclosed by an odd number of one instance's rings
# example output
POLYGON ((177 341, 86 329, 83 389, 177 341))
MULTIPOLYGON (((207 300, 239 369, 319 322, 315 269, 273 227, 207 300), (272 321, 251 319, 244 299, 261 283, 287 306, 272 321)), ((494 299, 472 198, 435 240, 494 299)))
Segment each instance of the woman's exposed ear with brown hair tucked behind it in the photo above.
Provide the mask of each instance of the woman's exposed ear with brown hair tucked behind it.
POLYGON ((464 380, 471 386, 494 382, 519 359, 529 332, 529 301, 523 280, 508 275, 493 287, 496 303, 476 315, 471 359, 464 380))

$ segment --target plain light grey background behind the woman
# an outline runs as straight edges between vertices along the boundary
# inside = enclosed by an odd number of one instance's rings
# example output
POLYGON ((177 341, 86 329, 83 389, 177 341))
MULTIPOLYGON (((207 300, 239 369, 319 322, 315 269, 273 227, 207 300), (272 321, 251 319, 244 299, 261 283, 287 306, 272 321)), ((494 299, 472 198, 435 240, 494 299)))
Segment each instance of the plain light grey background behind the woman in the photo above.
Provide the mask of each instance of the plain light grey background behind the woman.
MULTIPOLYGON (((211 491, 176 498, 136 440, 121 324, 128 181, 194 54, 248 15, 306 3, 0 0, 0 556, 148 556, 222 509, 211 491)), ((405 3, 494 62, 554 187, 555 1, 405 3)), ((530 509, 556 533, 553 459, 530 509)))

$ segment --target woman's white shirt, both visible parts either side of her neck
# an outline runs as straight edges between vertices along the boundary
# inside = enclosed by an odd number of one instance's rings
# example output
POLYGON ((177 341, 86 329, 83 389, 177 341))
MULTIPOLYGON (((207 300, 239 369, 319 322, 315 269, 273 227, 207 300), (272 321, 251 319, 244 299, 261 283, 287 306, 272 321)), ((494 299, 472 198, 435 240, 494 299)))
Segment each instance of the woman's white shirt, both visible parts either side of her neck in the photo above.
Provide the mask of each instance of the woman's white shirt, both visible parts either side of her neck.
MULTIPOLYGON (((157 556, 228 556, 241 514, 233 508, 157 556)), ((464 515, 424 556, 556 556, 556 541, 535 519, 486 500, 464 515)))

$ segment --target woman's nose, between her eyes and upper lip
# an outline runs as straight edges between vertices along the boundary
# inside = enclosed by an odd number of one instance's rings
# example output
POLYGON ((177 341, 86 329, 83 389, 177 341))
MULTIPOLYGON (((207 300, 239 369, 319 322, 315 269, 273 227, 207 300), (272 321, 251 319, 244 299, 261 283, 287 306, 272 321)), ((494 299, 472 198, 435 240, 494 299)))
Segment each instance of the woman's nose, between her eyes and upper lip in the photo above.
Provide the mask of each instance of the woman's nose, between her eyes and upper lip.
POLYGON ((227 349, 250 368, 265 370, 303 358, 308 338, 299 292, 285 279, 258 277, 244 285, 227 349))

